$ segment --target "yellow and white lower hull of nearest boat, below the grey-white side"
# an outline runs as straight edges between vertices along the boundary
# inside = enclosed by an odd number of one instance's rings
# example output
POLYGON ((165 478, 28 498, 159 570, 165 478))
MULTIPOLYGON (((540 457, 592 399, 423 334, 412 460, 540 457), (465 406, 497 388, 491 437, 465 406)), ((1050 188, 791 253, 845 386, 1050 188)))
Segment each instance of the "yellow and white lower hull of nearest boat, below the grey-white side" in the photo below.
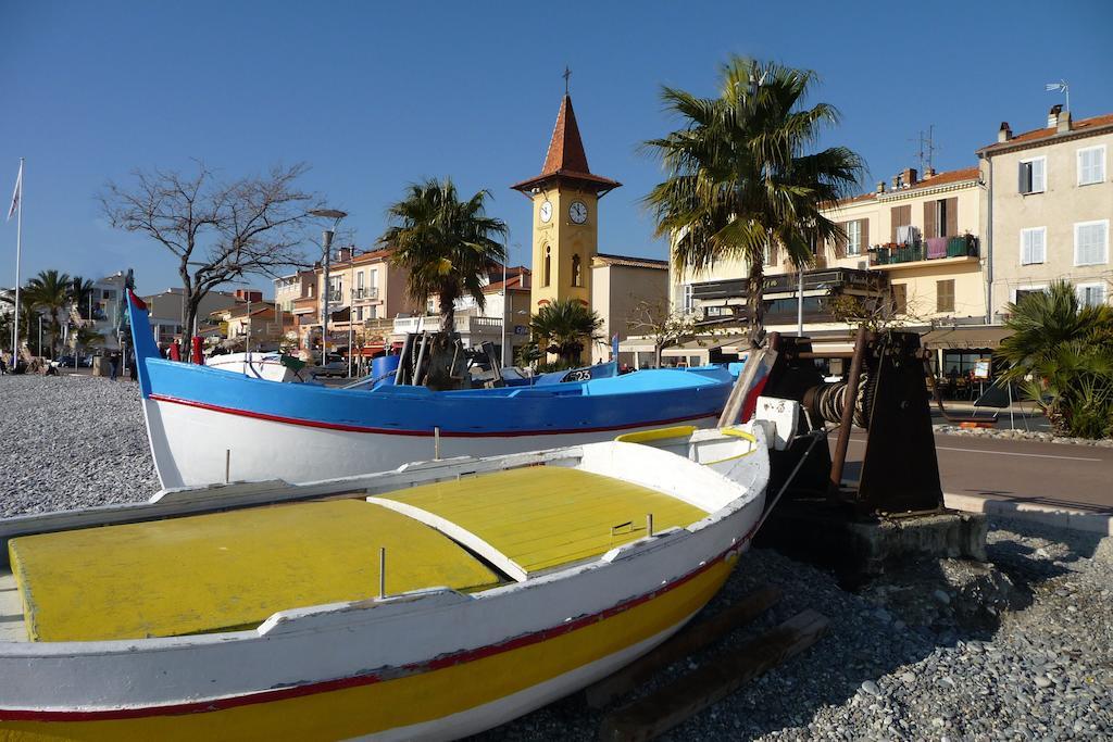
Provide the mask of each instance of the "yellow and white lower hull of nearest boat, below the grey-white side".
MULTIPOLYGON (((126 718, 81 712, 2 720, 4 739, 380 739, 451 740, 505 723, 605 677, 678 631, 722 586, 733 557, 613 615, 522 646, 479 650, 472 659, 381 680, 353 677, 290 698, 178 704, 126 718), (338 686, 338 687, 334 687, 338 686), (225 708, 221 708, 225 706, 225 708), (52 718, 51 718, 52 716, 52 718)), ((355 647, 351 647, 355 651, 355 647)), ((280 694, 274 694, 276 696, 280 694)))

